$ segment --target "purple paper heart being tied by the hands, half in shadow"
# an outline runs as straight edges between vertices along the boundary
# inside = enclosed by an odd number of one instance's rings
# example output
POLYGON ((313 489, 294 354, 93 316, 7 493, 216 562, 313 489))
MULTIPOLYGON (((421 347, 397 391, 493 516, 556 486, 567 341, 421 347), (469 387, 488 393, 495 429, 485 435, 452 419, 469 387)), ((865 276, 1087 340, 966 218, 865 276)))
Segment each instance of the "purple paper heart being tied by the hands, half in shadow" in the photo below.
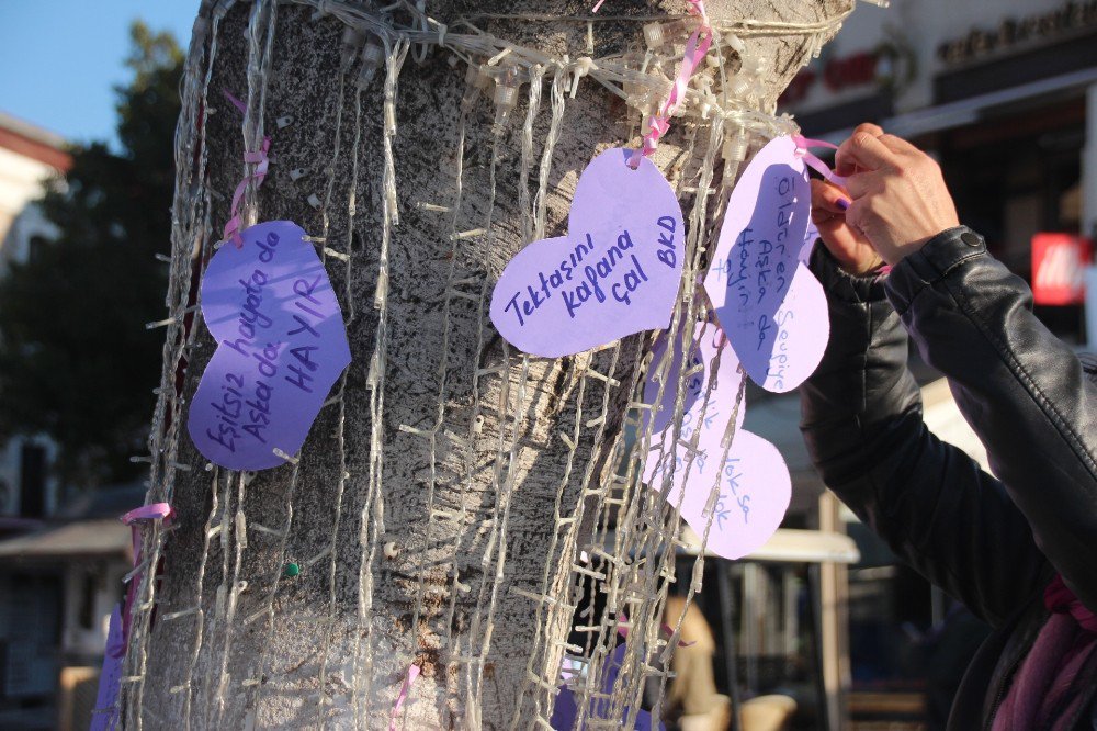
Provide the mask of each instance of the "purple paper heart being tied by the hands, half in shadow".
POLYGON ((803 265, 811 185, 791 137, 772 139, 747 166, 727 214, 704 290, 750 379, 783 393, 823 358, 826 295, 803 265))

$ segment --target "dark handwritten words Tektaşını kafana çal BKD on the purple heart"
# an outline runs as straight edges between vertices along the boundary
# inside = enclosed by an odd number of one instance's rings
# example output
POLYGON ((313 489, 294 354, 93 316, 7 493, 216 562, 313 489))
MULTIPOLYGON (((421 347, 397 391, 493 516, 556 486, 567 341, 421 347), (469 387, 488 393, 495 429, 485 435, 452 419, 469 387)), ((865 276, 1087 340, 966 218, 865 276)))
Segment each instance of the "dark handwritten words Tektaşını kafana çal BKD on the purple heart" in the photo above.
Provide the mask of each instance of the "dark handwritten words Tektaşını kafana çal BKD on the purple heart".
MULTIPOLYGON (((674 269, 678 263, 675 244, 678 222, 674 216, 661 216, 656 223, 663 229, 658 239, 653 243, 656 259, 674 269)), ((643 246, 643 243, 638 246, 643 246)), ((647 271, 636 256, 637 244, 625 229, 617 237, 615 243, 604 248, 606 252, 598 256, 598 245, 593 237, 587 234, 586 240, 573 246, 559 266, 547 273, 538 272, 538 282, 527 284, 524 292, 521 290, 514 292, 504 312, 513 312, 519 326, 524 326, 527 318, 538 312, 555 293, 559 293, 565 311, 572 319, 588 302, 593 306, 612 297, 626 306, 632 305, 637 297, 643 296, 642 288, 649 281, 647 271)), ((641 252, 641 256, 643 254, 641 252)))

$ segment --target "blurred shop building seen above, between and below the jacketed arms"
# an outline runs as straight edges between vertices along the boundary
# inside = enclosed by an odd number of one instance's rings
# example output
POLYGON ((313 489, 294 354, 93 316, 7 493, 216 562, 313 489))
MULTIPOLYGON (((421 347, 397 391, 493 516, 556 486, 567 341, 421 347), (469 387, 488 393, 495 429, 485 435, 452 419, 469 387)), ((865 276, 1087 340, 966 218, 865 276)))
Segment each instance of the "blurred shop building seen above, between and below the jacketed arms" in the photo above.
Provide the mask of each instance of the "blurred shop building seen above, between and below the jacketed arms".
MULTIPOLYGON (((840 143, 857 124, 874 122, 929 151, 960 220, 1030 283, 1037 234, 1097 234, 1093 0, 861 3, 779 110, 810 137, 840 143)), ((1064 340, 1085 342, 1079 303, 1034 310, 1064 340)), ((930 428, 988 470, 945 382, 930 383, 935 374, 916 356, 912 368, 927 384, 930 428)), ((848 589, 852 728, 941 728, 985 628, 897 563, 848 511, 845 522, 861 554, 848 589)))

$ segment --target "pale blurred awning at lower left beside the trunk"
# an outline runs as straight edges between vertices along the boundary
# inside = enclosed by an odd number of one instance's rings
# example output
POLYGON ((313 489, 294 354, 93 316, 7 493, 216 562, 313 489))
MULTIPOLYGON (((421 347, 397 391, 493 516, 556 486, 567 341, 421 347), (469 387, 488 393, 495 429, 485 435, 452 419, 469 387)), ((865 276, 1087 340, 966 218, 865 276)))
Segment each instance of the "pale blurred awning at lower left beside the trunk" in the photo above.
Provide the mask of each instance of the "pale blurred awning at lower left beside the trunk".
POLYGON ((132 560, 129 529, 117 519, 79 520, 0 541, 0 559, 117 556, 132 560))

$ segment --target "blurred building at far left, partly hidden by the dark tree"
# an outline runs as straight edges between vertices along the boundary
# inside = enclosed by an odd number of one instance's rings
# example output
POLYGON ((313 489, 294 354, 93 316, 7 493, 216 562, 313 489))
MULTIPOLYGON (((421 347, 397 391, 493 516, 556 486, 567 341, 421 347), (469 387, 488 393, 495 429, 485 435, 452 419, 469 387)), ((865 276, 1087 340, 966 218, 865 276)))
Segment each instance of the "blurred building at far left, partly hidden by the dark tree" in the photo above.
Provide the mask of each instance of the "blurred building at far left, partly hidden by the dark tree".
MULTIPOLYGON (((0 278, 56 236, 37 201, 64 185, 71 164, 63 138, 0 113, 0 278)), ((144 488, 66 499, 53 474, 56 456, 44 436, 0 443, 4 729, 87 728, 108 619, 133 565, 117 516, 142 503, 144 488)))

